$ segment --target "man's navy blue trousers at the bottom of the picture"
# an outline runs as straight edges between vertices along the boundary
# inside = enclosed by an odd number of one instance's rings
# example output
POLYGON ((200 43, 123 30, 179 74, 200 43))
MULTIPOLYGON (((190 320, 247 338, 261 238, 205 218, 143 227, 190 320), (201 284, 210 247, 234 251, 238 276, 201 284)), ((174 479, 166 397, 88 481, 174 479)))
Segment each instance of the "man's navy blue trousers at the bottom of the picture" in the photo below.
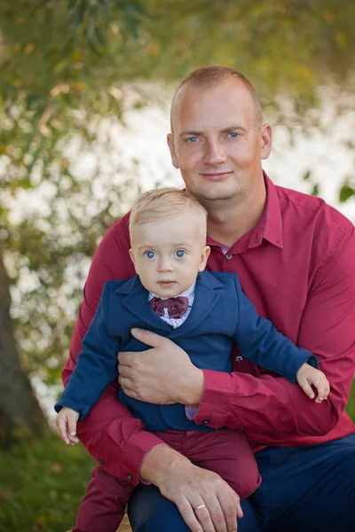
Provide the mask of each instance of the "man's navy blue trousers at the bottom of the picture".
MULTIPOLYGON (((355 532, 355 434, 312 447, 256 453, 261 486, 241 501, 239 532, 355 532)), ((154 486, 130 499, 134 532, 188 532, 177 506, 154 486)))

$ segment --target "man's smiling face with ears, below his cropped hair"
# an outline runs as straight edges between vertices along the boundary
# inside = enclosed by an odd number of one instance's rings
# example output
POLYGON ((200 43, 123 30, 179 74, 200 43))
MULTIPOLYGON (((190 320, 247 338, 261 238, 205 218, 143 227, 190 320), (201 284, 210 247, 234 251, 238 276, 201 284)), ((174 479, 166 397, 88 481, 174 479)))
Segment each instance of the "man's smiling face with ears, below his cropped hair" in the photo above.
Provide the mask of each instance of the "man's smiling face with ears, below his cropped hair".
POLYGON ((271 129, 256 121, 253 98, 241 82, 209 90, 186 85, 172 108, 172 128, 172 163, 201 203, 250 197, 260 188, 271 129))

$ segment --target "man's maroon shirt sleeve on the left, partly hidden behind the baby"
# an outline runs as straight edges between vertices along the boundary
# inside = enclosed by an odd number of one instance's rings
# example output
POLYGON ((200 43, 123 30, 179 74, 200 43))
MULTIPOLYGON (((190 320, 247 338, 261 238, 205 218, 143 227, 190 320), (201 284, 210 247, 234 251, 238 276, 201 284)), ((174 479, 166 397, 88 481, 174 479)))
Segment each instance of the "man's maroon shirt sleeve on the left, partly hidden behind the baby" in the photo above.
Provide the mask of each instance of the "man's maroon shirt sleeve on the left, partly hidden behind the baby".
MULTIPOLYGON (((73 372, 76 358, 82 351, 82 341, 89 329, 104 284, 107 280, 121 280, 135 275, 130 261, 128 216, 114 223, 99 244, 93 257, 83 291, 83 303, 75 324, 69 359, 62 372, 63 383, 73 372)), ((108 473, 138 484, 139 469, 146 452, 163 443, 154 434, 146 432, 117 398, 118 384, 106 387, 99 403, 88 416, 77 424, 77 435, 85 448, 108 473)))

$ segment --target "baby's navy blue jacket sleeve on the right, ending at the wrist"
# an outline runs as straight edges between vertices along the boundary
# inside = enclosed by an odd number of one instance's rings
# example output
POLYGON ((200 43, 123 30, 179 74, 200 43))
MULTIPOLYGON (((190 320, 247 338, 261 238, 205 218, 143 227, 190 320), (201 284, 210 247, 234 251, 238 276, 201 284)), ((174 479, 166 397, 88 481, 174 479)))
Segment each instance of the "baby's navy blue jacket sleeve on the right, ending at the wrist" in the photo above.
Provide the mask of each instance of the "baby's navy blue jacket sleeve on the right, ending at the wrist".
POLYGON ((241 355, 294 383, 297 383, 296 373, 304 363, 318 368, 316 356, 306 349, 297 348, 277 331, 270 320, 257 315, 253 303, 242 292, 237 276, 235 288, 239 300, 239 319, 233 341, 238 345, 241 355))

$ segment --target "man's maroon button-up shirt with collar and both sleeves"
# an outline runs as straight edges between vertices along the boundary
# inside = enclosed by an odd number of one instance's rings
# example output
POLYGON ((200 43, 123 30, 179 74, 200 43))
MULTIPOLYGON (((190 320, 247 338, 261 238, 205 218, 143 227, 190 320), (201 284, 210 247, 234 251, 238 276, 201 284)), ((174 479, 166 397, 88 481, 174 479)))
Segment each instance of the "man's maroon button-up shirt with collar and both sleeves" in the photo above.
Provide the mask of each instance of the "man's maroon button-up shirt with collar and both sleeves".
MULTIPOLYGON (((355 232, 323 200, 275 186, 265 176, 267 200, 256 227, 227 254, 211 246, 208 270, 234 271, 261 316, 319 359, 330 383, 327 401, 309 399, 301 387, 271 375, 233 349, 233 373, 204 370, 195 421, 245 431, 253 450, 313 445, 355 430, 344 412, 355 371, 355 232)), ((66 384, 109 279, 135 274, 128 250, 129 215, 107 231, 84 288, 84 301, 63 371, 66 384)), ((78 435, 109 473, 137 484, 146 452, 162 443, 117 401, 114 386, 78 424, 78 435)))

